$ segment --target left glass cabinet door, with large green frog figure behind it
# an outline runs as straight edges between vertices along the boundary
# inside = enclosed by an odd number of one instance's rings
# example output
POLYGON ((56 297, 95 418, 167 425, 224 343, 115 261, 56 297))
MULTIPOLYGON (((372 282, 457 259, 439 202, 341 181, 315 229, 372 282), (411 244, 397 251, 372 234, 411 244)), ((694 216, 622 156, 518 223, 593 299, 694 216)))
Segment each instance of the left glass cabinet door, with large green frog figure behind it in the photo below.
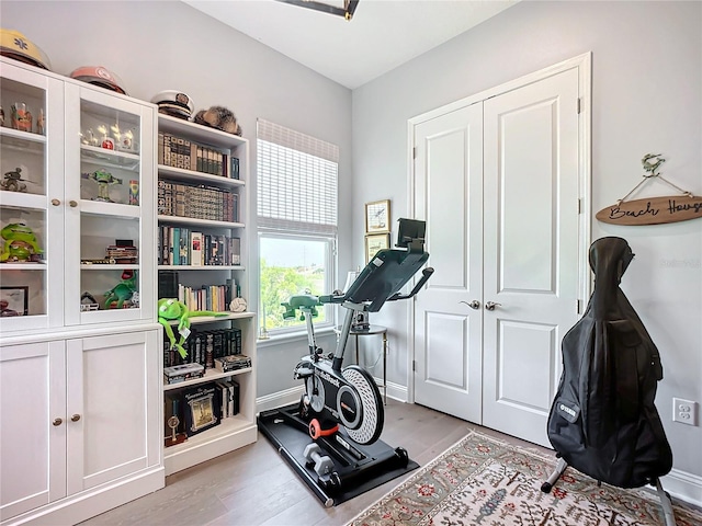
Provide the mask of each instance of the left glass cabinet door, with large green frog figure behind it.
MULTIPOLYGON (((11 62, 11 61, 10 61, 11 62)), ((0 64, 0 331, 63 324, 63 88, 0 64)))

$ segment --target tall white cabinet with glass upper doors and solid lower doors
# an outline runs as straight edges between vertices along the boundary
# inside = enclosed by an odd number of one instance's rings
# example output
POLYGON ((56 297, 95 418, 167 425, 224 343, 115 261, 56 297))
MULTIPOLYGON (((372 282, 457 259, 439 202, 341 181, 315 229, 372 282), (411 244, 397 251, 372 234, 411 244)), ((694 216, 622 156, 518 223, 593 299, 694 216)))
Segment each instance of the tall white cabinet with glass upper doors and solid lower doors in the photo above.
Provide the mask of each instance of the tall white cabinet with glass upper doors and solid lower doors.
POLYGON ((0 524, 75 524, 163 487, 157 108, 7 58, 0 77, 21 183, 0 190, 0 524), (105 263, 117 239, 136 259, 105 263))

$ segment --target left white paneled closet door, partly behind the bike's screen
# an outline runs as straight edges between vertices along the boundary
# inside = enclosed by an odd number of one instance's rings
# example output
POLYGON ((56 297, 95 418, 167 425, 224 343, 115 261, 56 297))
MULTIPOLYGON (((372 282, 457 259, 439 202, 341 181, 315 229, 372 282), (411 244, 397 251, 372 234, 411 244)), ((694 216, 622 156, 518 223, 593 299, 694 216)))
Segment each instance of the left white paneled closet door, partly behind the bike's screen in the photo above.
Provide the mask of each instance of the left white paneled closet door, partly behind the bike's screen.
POLYGON ((415 401, 480 421, 483 108, 467 106, 416 128, 416 217, 427 220, 437 272, 416 299, 415 401))

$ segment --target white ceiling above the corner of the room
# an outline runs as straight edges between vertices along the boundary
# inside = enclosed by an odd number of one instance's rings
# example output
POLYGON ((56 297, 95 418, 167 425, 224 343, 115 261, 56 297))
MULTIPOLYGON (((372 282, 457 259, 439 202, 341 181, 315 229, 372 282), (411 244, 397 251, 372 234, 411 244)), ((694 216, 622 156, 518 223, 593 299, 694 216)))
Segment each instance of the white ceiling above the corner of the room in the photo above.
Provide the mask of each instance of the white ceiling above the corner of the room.
POLYGON ((519 0, 360 0, 351 21, 275 0, 183 1, 354 89, 519 0))

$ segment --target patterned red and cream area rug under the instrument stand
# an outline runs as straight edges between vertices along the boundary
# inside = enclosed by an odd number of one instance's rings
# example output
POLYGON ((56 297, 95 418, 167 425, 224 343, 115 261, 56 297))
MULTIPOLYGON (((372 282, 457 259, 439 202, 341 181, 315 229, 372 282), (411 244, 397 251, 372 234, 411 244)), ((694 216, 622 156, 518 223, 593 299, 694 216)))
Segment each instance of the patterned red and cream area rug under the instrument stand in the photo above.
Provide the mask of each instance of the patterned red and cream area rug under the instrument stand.
MULTIPOLYGON (((601 487, 568 468, 551 493, 541 484, 555 467, 545 456, 471 432, 361 513, 353 526, 648 526, 663 525, 657 494, 601 487)), ((702 513, 673 505, 678 526, 702 513)))

